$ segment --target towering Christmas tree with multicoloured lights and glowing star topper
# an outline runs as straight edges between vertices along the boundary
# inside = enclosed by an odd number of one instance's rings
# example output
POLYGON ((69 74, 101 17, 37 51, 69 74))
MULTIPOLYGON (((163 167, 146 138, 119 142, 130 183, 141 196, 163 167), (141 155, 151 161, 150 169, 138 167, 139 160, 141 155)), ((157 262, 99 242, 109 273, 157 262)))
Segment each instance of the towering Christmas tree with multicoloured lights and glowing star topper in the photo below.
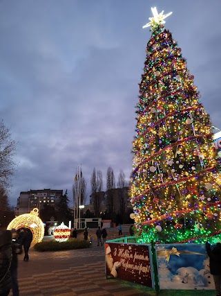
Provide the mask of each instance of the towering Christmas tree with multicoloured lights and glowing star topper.
POLYGON ((140 241, 213 242, 220 234, 220 162, 211 121, 181 49, 153 16, 137 103, 131 203, 140 241))

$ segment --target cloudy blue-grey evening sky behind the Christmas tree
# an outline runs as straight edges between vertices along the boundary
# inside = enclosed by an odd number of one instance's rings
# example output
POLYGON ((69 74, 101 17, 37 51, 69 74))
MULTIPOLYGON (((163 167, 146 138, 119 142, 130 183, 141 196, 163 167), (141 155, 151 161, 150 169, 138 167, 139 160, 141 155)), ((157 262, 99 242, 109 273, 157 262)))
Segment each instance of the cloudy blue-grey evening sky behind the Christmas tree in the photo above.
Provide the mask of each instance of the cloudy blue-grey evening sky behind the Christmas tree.
POLYGON ((0 118, 18 142, 10 202, 20 191, 68 189, 82 166, 129 180, 138 83, 151 33, 166 28, 182 49, 213 125, 220 119, 220 0, 2 0, 0 118))

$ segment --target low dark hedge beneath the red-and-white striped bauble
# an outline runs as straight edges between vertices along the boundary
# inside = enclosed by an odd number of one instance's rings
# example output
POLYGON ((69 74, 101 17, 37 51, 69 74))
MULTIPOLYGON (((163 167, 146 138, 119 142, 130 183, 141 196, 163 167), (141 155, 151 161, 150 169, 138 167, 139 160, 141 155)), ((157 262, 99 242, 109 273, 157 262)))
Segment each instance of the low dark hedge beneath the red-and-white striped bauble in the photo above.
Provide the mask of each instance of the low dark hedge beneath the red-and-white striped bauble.
POLYGON ((62 250, 75 250, 84 249, 90 247, 90 242, 86 240, 79 240, 76 238, 68 238, 68 241, 59 243, 53 239, 52 241, 41 241, 41 243, 36 243, 34 248, 39 252, 47 251, 62 251, 62 250))

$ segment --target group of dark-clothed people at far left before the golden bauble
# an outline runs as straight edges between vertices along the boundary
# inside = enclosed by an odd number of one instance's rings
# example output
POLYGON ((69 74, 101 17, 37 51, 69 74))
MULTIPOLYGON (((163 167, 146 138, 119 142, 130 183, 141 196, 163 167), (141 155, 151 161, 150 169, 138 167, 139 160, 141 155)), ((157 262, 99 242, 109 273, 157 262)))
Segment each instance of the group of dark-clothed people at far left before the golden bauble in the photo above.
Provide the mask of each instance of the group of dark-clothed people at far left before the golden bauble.
POLYGON ((0 232, 0 296, 8 296, 12 288, 12 295, 19 296, 17 281, 17 255, 24 250, 23 261, 28 261, 28 250, 32 242, 30 229, 21 229, 17 235, 16 229, 0 232))

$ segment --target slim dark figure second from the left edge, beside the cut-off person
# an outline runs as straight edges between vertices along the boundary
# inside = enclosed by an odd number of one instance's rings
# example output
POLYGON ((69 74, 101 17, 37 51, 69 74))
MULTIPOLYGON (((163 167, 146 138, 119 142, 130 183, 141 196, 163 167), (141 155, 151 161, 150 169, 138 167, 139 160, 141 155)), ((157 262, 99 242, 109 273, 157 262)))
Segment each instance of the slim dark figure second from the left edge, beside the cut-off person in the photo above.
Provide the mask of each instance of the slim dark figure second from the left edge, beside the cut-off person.
POLYGON ((11 232, 12 232, 12 262, 10 266, 10 272, 12 277, 12 295, 19 296, 19 285, 18 285, 18 279, 17 279, 17 267, 18 267, 17 255, 21 254, 22 247, 18 243, 16 229, 12 228, 11 232))

